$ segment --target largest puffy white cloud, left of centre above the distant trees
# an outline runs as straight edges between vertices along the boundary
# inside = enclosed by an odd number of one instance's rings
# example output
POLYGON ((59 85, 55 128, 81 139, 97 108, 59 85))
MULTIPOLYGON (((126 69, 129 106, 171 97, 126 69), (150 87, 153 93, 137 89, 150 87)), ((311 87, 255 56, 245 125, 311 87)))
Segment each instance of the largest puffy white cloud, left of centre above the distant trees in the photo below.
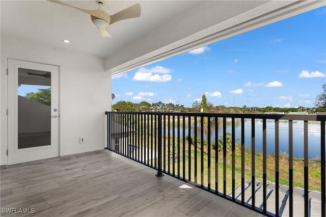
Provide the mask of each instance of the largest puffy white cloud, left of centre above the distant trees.
POLYGON ((153 81, 153 82, 167 82, 172 80, 171 69, 155 66, 151 69, 140 68, 132 78, 133 81, 153 81), (154 74, 158 73, 158 74, 154 74), (163 75, 159 75, 163 74, 163 75))

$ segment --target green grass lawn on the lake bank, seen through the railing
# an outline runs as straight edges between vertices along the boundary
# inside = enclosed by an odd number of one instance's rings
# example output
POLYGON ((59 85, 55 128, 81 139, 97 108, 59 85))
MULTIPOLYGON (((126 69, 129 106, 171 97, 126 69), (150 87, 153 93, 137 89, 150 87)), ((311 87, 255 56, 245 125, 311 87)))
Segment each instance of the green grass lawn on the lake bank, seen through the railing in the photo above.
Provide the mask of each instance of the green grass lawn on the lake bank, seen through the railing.
MULTIPOLYGON (((208 165, 208 155, 203 154, 203 171, 201 171, 201 150, 197 148, 197 183, 208 187, 208 171, 210 171, 210 188, 215 190, 215 180, 218 181, 218 191, 223 193, 223 155, 220 152, 218 154, 218 160, 216 165, 218 165, 218 174, 215 174, 215 156, 213 155, 215 150, 211 150, 212 154, 210 157, 210 165, 208 165), (202 177, 203 176, 203 182, 202 177), (216 177, 217 176, 217 177, 216 177)), ((172 156, 172 154, 170 155, 172 156)), ((190 152, 191 160, 189 161, 189 151, 185 151, 185 179, 195 182, 195 150, 190 152), (188 176, 188 165, 191 164, 191 177, 188 176)), ((183 176, 183 152, 180 148, 180 170, 179 176, 183 176)), ((227 163, 226 163, 226 194, 232 192, 232 155, 227 153, 227 163)), ((281 185, 289 185, 288 181, 288 160, 286 158, 280 157, 280 179, 279 183, 281 185)), ((262 181, 262 154, 255 154, 255 179, 257 181, 262 181)), ((267 182, 275 182, 275 158, 273 156, 267 155, 266 158, 267 172, 266 179, 267 182)), ((172 173, 173 161, 172 157, 170 159, 170 171, 172 173)), ((168 170, 168 160, 166 160, 166 170, 168 170)), ((241 184, 241 153, 240 150, 235 153, 235 188, 241 184)), ((178 175, 178 164, 175 162, 175 174, 178 175)), ((304 188, 304 164, 300 159, 293 160, 293 186, 304 188)), ((251 180, 252 170, 251 170, 251 153, 246 151, 244 154, 244 179, 251 180)), ((320 191, 320 179, 321 173, 318 165, 309 164, 309 190, 320 191)))

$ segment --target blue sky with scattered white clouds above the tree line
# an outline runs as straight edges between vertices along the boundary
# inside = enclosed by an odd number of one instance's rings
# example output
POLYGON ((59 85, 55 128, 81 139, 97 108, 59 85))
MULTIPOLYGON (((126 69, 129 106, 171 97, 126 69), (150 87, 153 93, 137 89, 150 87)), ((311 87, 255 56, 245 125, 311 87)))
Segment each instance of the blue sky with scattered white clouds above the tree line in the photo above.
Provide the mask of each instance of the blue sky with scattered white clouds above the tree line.
POLYGON ((112 80, 124 100, 191 107, 313 107, 326 83, 326 7, 183 53, 112 80))

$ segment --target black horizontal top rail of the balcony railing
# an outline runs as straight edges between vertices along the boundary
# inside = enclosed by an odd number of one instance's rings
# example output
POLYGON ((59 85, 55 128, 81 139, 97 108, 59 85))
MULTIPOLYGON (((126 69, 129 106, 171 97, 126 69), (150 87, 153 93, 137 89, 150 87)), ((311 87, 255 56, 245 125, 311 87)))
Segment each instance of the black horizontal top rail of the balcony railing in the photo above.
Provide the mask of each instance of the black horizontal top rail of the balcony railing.
POLYGON ((326 115, 320 114, 248 114, 248 113, 185 113, 185 112, 111 112, 105 114, 151 114, 151 115, 174 115, 174 116, 197 116, 197 117, 227 117, 227 118, 254 118, 274 120, 310 120, 325 121, 326 115))

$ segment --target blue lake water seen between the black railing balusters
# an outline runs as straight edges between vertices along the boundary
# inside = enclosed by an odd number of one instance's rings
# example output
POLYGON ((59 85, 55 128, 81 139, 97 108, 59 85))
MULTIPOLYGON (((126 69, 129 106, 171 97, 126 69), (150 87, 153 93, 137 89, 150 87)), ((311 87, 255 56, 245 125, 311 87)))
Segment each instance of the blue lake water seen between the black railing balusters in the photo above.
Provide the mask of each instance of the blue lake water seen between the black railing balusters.
MULTIPOLYGON (((175 121, 177 122, 177 121, 175 121)), ((200 138, 200 121, 197 122, 197 137, 200 138)), ((215 127, 214 123, 211 123, 211 141, 215 139, 215 127)), ((262 120, 257 119, 255 121, 255 150, 256 152, 262 152, 263 133, 262 133, 262 120)), ((219 121, 219 138, 223 135, 223 124, 219 121)), ((194 137, 194 123, 192 123, 191 136, 194 137)), ((168 130, 168 129, 167 129, 168 130)), ((227 133, 232 133, 231 119, 227 119, 227 133)), ((170 129, 172 136, 172 130, 170 129)), ((289 136, 288 136, 288 121, 279 121, 279 150, 280 152, 289 152, 289 136)), ((320 157, 320 122, 309 121, 308 122, 308 158, 313 159, 320 157)), ((323 132, 325 133, 325 132, 323 132)), ((175 128, 175 135, 177 136, 177 128, 175 128)), ((188 127, 186 124, 185 135, 188 135, 188 127)), ((275 121, 266 121, 266 140, 267 140, 267 154, 275 153, 275 121)), ((204 136, 206 139, 206 136, 204 136)), ((176 137, 177 138, 177 137, 176 137)), ((180 138, 182 138, 182 124, 180 126, 180 138)), ((235 120, 235 138, 238 139, 238 143, 241 142, 241 121, 235 120)), ((244 142, 247 147, 251 148, 251 120, 244 120, 244 142)), ((304 157, 304 121, 293 121, 293 156, 296 158, 304 157)))

